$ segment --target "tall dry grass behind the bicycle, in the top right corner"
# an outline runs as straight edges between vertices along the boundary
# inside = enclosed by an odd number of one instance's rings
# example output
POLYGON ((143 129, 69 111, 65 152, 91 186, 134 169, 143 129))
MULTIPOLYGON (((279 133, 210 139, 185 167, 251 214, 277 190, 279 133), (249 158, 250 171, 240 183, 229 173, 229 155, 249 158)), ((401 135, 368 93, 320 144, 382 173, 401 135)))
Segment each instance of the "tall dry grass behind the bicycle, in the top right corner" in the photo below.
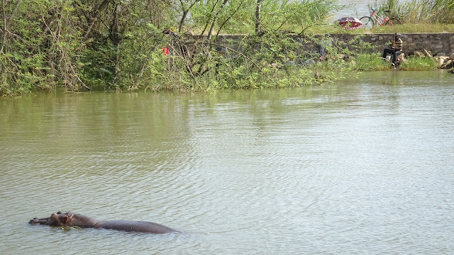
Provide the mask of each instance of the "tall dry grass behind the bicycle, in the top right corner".
POLYGON ((376 0, 370 7, 390 10, 401 23, 454 23, 453 0, 376 0))

